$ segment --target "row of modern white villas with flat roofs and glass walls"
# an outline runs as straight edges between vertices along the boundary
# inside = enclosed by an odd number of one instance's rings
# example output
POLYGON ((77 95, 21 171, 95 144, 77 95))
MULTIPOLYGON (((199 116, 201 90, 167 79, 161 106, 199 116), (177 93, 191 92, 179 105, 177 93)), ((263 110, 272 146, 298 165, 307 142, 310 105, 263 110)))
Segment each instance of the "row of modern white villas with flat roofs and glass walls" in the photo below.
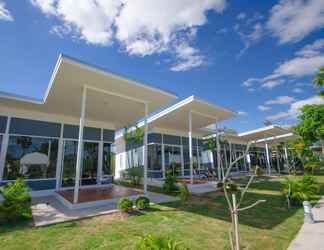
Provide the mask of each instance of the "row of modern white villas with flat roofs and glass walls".
POLYGON ((0 93, 0 184, 22 177, 34 195, 71 189, 78 203, 80 189, 109 185, 141 166, 146 192, 148 178, 163 179, 168 170, 192 183, 197 172, 243 154, 248 141, 256 145, 237 171, 256 160, 270 169, 268 145, 293 136, 276 126, 226 135, 231 146, 217 157, 203 147, 213 134, 203 128, 236 113, 194 96, 176 98, 61 55, 43 99, 0 93), (135 125, 144 130, 137 145, 123 136, 135 125))

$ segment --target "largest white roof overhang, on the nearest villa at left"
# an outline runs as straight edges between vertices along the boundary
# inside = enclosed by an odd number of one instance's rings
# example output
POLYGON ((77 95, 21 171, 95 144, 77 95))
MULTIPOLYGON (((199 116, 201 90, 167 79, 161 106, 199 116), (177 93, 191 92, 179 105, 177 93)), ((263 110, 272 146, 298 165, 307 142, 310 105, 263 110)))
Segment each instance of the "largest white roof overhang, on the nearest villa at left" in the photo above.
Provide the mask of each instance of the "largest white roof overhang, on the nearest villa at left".
POLYGON ((176 99, 172 93, 112 74, 60 55, 42 100, 0 94, 0 105, 79 118, 83 88, 87 88, 86 120, 110 122, 122 128, 176 99))

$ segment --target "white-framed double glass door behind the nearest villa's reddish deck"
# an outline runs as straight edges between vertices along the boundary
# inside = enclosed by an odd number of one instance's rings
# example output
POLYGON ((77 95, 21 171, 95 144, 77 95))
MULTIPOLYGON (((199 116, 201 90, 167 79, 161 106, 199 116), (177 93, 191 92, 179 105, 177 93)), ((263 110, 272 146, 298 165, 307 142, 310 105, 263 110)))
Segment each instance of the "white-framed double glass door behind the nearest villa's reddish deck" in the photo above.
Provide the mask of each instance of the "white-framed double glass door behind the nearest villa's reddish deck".
MULTIPOLYGON (((64 141, 61 186, 71 187, 75 184, 75 167, 78 152, 77 141, 64 141)), ((94 185, 97 183, 98 169, 98 142, 84 142, 83 161, 81 166, 81 185, 94 185)))

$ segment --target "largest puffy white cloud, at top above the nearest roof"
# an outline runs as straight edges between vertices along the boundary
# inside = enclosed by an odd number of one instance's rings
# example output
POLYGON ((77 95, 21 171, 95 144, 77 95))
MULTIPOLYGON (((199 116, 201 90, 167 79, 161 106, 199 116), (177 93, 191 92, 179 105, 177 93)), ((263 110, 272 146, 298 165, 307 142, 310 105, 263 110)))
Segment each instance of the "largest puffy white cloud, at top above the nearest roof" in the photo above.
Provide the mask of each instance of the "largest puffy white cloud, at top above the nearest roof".
MULTIPOLYGON (((204 57, 192 46, 207 12, 222 13, 226 0, 31 0, 45 15, 55 16, 66 31, 87 43, 107 46, 118 41, 130 55, 174 55, 171 70, 198 67, 204 57)), ((64 34, 64 33, 63 33, 64 34)))

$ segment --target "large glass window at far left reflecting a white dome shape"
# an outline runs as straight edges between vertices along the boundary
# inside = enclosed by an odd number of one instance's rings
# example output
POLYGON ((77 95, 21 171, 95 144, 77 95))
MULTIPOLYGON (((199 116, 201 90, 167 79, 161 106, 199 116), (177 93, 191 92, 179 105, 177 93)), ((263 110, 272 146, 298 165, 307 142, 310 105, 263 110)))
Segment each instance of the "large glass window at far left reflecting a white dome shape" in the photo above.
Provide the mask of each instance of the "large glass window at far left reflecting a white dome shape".
POLYGON ((4 179, 55 178, 57 152, 57 139, 10 136, 4 179))

